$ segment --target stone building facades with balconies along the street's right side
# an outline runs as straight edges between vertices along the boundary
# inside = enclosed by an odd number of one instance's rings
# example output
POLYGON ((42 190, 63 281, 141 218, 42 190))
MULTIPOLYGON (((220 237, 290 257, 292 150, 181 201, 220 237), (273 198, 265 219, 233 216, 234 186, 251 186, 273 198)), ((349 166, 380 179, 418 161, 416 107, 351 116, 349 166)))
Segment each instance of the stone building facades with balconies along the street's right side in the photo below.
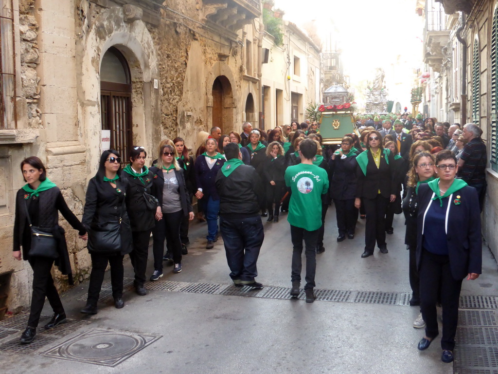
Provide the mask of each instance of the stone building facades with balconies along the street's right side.
POLYGON ((483 130, 488 149, 483 235, 498 257, 498 1, 427 0, 424 15, 432 25, 424 31, 429 115, 473 122, 483 130), (440 14, 433 18, 435 10, 440 14))

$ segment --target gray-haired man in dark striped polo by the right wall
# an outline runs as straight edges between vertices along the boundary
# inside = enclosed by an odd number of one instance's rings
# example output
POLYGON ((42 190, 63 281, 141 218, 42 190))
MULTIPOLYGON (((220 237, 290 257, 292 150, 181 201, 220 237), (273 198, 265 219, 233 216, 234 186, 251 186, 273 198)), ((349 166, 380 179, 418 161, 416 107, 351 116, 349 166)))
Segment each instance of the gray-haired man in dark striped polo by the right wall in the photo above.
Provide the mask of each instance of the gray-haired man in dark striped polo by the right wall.
POLYGON ((481 139, 483 131, 473 123, 464 126, 462 136, 467 140, 462 156, 458 160, 458 175, 471 187, 476 188, 479 195, 479 207, 483 211, 486 195, 486 145, 481 139))

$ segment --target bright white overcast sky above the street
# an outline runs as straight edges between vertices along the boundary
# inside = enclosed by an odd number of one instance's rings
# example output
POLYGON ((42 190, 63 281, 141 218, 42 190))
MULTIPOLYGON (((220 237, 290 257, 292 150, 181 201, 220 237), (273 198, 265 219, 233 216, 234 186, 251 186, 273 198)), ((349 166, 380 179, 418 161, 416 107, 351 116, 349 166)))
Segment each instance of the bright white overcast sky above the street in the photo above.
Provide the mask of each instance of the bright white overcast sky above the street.
POLYGON ((421 67, 423 21, 415 5, 415 0, 275 0, 275 8, 285 11, 284 19, 298 25, 316 20, 324 51, 330 38, 332 49, 337 42, 352 86, 365 85, 375 68, 382 67, 387 89, 391 85, 396 96, 394 85, 399 89, 405 76, 409 96, 413 69, 421 67))

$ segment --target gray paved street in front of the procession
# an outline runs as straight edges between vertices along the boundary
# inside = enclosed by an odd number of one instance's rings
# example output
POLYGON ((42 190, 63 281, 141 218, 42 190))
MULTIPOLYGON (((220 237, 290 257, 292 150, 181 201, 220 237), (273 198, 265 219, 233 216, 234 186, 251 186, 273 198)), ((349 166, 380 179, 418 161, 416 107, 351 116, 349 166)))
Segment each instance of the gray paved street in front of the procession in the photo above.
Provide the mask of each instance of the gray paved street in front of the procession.
MULTIPOLYGON (((395 217, 394 234, 387 238, 389 253, 380 254, 376 250, 373 257, 362 259, 365 221, 359 221, 355 239, 337 243, 334 207, 329 209, 326 251, 317 255, 316 290, 337 291, 327 295, 332 295, 332 300, 342 301, 325 301, 326 293, 320 293, 321 300, 313 304, 307 304, 304 300, 282 299, 285 297, 282 296, 282 288, 290 288, 292 252, 289 225, 285 218, 282 215, 279 223, 265 223, 265 240, 258 260, 257 278, 265 285, 263 290, 242 292, 229 286, 231 281, 221 238, 213 250, 204 249, 206 223, 194 223, 190 235, 192 244, 189 254, 182 260, 183 271, 180 274, 172 274, 172 267, 166 267, 160 281, 147 283, 147 296, 140 297, 127 291, 124 294, 124 309, 117 310, 109 300, 103 301, 99 304, 99 313, 93 317, 79 313, 85 304, 82 298, 88 284, 75 287, 62 300, 68 317, 76 321, 53 330, 53 334, 57 334, 57 329, 67 326, 68 334, 60 332, 51 339, 47 337, 48 344, 40 343, 29 354, 18 348, 18 333, 0 335, 3 338, 0 340, 2 373, 24 370, 52 374, 453 373, 454 365, 457 368, 464 364, 461 358, 465 352, 478 352, 474 348, 457 346, 455 363, 443 364, 440 361, 439 338, 425 352, 416 349, 423 329, 416 330, 411 326, 418 308, 405 305, 410 287, 401 215, 395 217), (367 291, 376 293, 368 294, 367 291), (238 292, 245 296, 237 296, 238 292), (254 297, 250 297, 250 293, 254 293, 254 297), (383 300, 382 295, 390 297, 392 302, 383 300), (374 299, 369 299, 371 296, 374 299), (375 299, 377 296, 378 300, 375 299), (402 300, 402 297, 405 299, 402 300), (109 342, 94 340, 96 344, 85 347, 75 343, 66 348, 51 349, 92 329, 93 333, 100 334, 109 333, 106 330, 123 332, 124 337, 109 342), (129 338, 132 335, 134 340, 129 338), (106 357, 109 359, 107 364, 95 365, 67 360, 71 355, 98 358, 100 352, 112 350, 110 347, 113 344, 116 347, 129 346, 130 341, 137 341, 137 335, 144 337, 133 344, 141 344, 144 348, 124 361, 106 357), (58 356, 65 356, 66 360, 58 356), (105 366, 116 362, 115 367, 105 366)), ((125 266, 125 277, 131 278, 129 260, 125 266)), ((149 258, 148 274, 152 271, 151 266, 149 258)), ((106 277, 108 279, 109 274, 106 277)), ((126 281, 129 285, 130 279, 126 281)), ((110 285, 106 282, 107 293, 103 291, 101 299, 109 294, 110 285)), ((494 304, 489 309, 461 309, 461 317, 471 316, 472 313, 486 314, 491 318, 487 326, 496 326, 497 285, 497 264, 485 248, 483 275, 473 282, 464 281, 462 295, 481 295, 488 297, 486 300, 494 300, 494 304)), ((43 314, 51 314, 48 303, 43 314)), ((460 328, 466 329, 462 324, 460 328)), ((9 329, 15 330, 12 326, 9 329)), ((487 338, 488 344, 495 345, 493 352, 496 360, 497 328, 491 330, 495 331, 495 335, 487 338)), ((469 331, 471 335, 477 334, 477 330, 469 331)), ((464 335, 457 334, 457 338, 464 335)), ((42 336, 44 333, 39 334, 33 344, 43 340, 42 336)), ((89 337, 86 339, 85 342, 92 341, 89 337)), ((482 364, 485 361, 481 355, 481 365, 486 365, 482 364)), ((477 373, 465 370, 455 372, 477 373)))

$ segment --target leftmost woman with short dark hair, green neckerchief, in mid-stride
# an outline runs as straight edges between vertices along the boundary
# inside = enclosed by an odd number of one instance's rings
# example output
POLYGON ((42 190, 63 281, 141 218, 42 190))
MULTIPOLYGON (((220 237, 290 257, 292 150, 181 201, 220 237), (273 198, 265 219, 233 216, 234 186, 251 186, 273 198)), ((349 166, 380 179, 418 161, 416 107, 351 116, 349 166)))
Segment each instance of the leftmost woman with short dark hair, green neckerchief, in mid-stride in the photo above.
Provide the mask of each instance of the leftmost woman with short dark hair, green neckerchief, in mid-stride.
POLYGON ((64 229, 58 224, 59 211, 69 224, 78 230, 81 239, 86 240, 87 234, 85 227, 67 206, 60 189, 46 177, 45 166, 38 157, 32 156, 24 159, 21 162, 21 172, 26 185, 17 191, 15 197, 12 255, 16 260, 20 260, 20 247, 22 246, 22 258, 28 261, 33 269, 33 291, 28 326, 20 338, 22 344, 28 344, 36 335, 45 297, 54 312, 50 322, 44 326, 45 329, 52 329, 66 322, 66 313, 50 272, 55 261, 61 273, 68 275, 69 284, 73 284, 64 229), (30 230, 33 226, 56 239, 53 243, 54 247, 51 248, 52 256, 30 253, 33 240, 36 238, 30 230))

